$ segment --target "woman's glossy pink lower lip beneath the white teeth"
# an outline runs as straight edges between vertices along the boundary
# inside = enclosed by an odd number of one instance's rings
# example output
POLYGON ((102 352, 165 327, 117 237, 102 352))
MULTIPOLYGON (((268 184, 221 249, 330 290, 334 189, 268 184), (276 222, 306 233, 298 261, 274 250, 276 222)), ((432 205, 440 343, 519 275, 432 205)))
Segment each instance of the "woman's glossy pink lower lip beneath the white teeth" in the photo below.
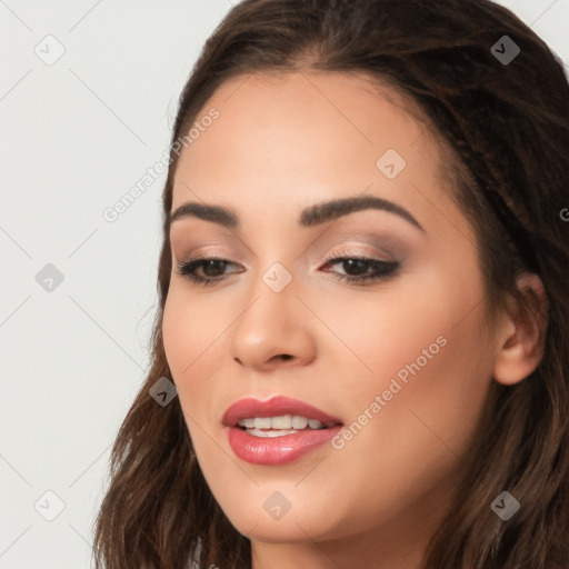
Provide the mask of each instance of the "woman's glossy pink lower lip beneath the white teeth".
POLYGON ((292 462, 307 452, 328 442, 342 429, 341 425, 328 429, 310 429, 282 437, 254 437, 240 427, 226 427, 233 452, 251 465, 277 466, 292 462))

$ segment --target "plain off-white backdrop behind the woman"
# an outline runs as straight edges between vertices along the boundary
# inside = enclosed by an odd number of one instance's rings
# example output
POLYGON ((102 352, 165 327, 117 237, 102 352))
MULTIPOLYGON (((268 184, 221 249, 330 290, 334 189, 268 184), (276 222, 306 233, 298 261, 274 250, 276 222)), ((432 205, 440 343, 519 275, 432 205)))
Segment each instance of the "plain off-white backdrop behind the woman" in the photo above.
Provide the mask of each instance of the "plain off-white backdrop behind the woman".
MULTIPOLYGON (((569 0, 499 3, 569 61, 569 0)), ((0 0, 0 569, 90 567, 149 361, 166 173, 116 221, 103 211, 168 150, 231 6, 0 0)))

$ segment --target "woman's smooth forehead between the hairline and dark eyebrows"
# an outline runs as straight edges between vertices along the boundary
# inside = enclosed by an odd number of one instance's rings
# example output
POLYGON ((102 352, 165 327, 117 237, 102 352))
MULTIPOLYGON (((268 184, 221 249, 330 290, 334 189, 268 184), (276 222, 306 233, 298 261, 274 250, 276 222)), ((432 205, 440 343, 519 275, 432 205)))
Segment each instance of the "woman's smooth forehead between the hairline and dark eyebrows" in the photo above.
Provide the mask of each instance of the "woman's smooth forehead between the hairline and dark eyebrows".
POLYGON ((239 76, 213 93, 193 124, 200 133, 181 152, 172 210, 196 197, 286 207, 366 188, 405 201, 416 193, 410 180, 439 178, 441 150, 418 108, 366 76, 239 76), (204 127, 200 121, 212 109, 219 116, 204 127), (386 160, 397 161, 397 178, 381 170, 386 160))

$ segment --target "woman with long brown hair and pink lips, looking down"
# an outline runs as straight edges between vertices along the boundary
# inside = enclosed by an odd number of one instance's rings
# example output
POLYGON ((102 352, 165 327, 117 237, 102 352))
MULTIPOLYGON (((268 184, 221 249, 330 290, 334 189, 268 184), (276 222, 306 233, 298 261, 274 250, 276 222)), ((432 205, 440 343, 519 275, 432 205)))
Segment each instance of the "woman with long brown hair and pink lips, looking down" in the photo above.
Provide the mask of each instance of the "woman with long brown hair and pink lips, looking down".
POLYGON ((566 569, 568 103, 487 0, 236 6, 98 567, 566 569))

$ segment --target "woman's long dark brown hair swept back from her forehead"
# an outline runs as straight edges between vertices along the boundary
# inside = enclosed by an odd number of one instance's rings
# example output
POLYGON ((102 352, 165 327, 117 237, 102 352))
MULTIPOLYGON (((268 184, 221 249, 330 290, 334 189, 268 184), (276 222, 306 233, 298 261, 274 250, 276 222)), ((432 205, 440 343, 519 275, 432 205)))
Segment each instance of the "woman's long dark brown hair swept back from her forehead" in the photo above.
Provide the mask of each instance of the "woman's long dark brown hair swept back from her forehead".
POLYGON ((515 386, 492 381, 472 467, 425 567, 567 569, 569 223, 561 212, 569 208, 569 86, 547 44, 489 0, 243 0, 208 39, 172 132, 152 363, 112 448, 96 520, 97 568, 251 567, 250 541, 202 476, 179 398, 161 407, 149 389, 171 378, 161 323, 173 143, 229 78, 299 69, 361 72, 418 106, 448 152, 452 198, 476 229, 490 312, 506 295, 535 308, 516 287, 520 271, 545 284, 543 359, 515 386), (510 62, 499 58, 505 36, 520 50, 510 62), (507 522, 490 508, 502 490, 521 503, 507 522))

